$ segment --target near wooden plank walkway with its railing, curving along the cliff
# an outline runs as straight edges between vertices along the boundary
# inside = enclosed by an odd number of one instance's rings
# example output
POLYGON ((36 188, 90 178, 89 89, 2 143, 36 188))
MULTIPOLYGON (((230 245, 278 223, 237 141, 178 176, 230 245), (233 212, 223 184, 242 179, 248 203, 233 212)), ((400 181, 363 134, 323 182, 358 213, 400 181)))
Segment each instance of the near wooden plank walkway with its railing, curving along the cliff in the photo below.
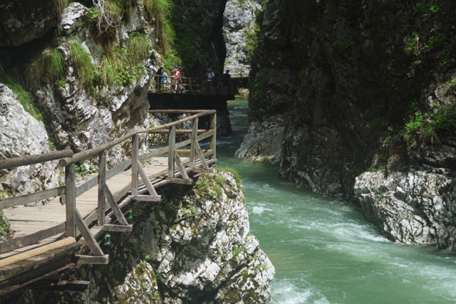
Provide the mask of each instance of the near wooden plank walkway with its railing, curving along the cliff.
MULTIPOLYGON (((150 111, 160 112, 160 111, 150 111)), ((153 204, 161 199, 157 190, 170 184, 193 184, 193 179, 208 172, 216 159, 217 117, 215 110, 168 110, 191 114, 182 120, 136 130, 93 149, 73 154, 71 150, 0 160, 0 169, 9 169, 58 160, 65 168, 65 185, 0 201, 0 209, 15 231, 12 239, 0 242, 0 295, 19 288, 41 288, 83 292, 88 281, 66 281, 63 274, 83 264, 109 263, 109 256, 98 245, 104 232, 131 233, 133 225, 125 214, 135 201, 153 204), (207 130, 197 128, 198 120, 209 117, 207 130), (176 130, 184 122, 191 130, 176 130), (169 145, 139 154, 140 135, 167 134, 169 145), (176 135, 190 139, 176 142, 176 135), (209 140, 209 149, 199 142, 209 140), (115 145, 128 146, 131 157, 108 169, 107 152, 115 145), (187 147, 186 150, 180 148, 187 147), (76 184, 76 162, 98 157, 98 175, 76 184), (141 162, 155 164, 142 167, 141 162), (52 199, 54 198, 54 199, 52 199), (21 208, 43 199, 48 204, 21 208), (61 280, 43 280, 61 274, 61 280)))

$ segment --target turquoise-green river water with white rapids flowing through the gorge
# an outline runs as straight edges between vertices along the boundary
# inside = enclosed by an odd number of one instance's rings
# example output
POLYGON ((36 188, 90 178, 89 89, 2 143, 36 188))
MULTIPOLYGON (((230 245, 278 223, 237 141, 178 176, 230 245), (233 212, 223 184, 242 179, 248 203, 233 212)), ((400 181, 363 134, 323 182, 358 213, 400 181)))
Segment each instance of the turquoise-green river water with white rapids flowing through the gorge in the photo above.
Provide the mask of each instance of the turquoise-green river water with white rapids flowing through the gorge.
POLYGON ((277 303, 456 303, 455 254, 390 242, 360 209, 280 179, 278 167, 235 158, 247 107, 229 102, 234 133, 219 137, 217 165, 242 177, 251 231, 276 268, 277 303))

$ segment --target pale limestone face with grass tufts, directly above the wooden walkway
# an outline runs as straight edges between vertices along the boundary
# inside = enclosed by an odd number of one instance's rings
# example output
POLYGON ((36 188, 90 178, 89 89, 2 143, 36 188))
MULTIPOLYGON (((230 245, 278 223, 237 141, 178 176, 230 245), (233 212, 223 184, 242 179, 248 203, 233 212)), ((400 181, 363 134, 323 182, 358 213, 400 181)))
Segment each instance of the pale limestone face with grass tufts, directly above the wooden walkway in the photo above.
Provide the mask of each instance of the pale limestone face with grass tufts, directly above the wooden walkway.
MULTIPOLYGON (((66 64, 69 66, 65 85, 53 83, 33 84, 38 103, 41 104, 44 115, 48 117, 51 139, 61 149, 72 149, 75 152, 88 150, 137 128, 147 127, 149 103, 147 88, 151 75, 154 73, 154 61, 157 54, 150 52, 142 65, 144 72, 128 84, 98 86, 95 95, 83 88, 78 78, 78 68, 71 58, 71 41, 80 42, 89 53, 94 65, 100 64, 100 56, 105 53, 103 46, 93 37, 93 22, 88 22, 88 9, 77 2, 71 3, 63 13, 61 26, 63 38, 58 40, 58 49, 63 52, 66 64)), ((150 31, 144 20, 138 16, 138 9, 130 9, 130 23, 122 23, 118 27, 116 45, 125 43, 128 34, 133 31, 150 31)), ((147 32, 146 32, 147 33, 147 32)), ((115 46, 113 46, 115 47, 115 46)), ((45 50, 46 52, 46 50, 45 50)), ((144 137, 141 137, 140 147, 146 149, 144 137)), ((108 164, 122 162, 130 150, 128 144, 115 146, 108 152, 108 164)))

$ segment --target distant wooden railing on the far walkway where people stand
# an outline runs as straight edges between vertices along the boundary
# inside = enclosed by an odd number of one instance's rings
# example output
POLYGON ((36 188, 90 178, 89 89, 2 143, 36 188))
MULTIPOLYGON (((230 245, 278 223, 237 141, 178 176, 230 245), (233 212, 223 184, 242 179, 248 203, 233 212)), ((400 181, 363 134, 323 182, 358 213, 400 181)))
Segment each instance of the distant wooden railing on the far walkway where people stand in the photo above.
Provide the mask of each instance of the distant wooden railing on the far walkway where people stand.
POLYGON ((186 93, 186 94, 229 94, 237 95, 236 81, 224 81, 222 78, 177 78, 155 75, 150 87, 155 93, 186 93), (167 78, 163 83, 162 79, 167 78))

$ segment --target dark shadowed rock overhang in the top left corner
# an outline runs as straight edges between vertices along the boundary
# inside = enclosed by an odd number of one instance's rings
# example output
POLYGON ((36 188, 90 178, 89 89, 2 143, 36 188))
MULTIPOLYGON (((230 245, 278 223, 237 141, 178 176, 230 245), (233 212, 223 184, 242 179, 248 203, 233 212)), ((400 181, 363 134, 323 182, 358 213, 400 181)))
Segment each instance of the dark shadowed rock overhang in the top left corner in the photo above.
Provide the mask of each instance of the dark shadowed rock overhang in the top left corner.
POLYGON ((19 46, 44 36, 56 26, 61 9, 56 0, 6 0, 0 4, 0 46, 19 46))

